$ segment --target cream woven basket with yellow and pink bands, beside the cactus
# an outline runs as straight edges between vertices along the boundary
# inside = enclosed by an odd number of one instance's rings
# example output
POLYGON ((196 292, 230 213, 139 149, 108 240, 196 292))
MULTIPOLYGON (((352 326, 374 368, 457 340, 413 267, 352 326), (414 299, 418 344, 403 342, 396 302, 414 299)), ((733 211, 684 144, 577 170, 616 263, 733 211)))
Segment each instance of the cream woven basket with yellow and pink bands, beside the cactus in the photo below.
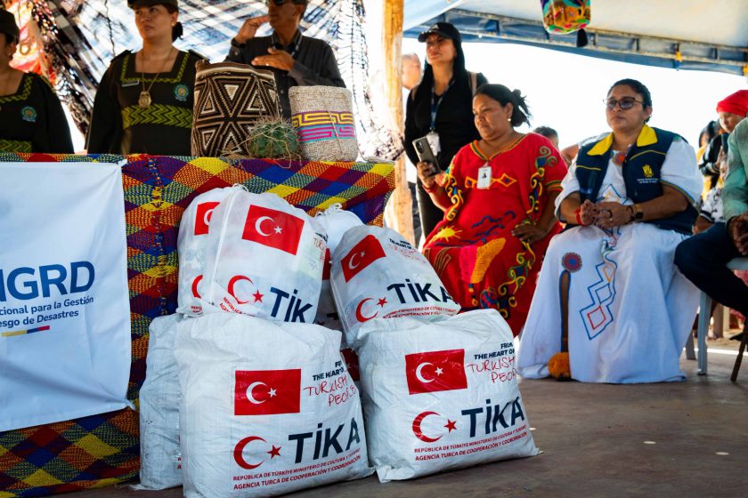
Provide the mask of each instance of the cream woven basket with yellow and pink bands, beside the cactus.
POLYGON ((353 95, 337 86, 292 86, 291 124, 309 161, 355 161, 358 141, 353 95))

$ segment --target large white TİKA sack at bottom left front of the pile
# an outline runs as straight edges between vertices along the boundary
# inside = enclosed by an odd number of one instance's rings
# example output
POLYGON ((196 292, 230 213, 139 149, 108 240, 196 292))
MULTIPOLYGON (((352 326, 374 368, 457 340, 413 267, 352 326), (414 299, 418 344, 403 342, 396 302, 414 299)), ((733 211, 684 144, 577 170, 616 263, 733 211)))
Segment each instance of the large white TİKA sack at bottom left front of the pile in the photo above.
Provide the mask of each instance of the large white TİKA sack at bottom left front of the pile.
POLYGON ((371 474, 339 332, 234 313, 179 327, 185 496, 272 496, 371 474))

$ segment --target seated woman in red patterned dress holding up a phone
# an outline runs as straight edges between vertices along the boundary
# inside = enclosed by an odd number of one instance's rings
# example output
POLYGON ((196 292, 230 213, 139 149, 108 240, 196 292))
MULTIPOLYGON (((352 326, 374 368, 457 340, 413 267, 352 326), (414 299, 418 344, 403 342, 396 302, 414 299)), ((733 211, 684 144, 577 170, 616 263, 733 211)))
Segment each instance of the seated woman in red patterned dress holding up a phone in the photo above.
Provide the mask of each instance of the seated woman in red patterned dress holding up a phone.
POLYGON ((419 167, 444 219, 426 254, 463 310, 494 308, 520 333, 550 237, 566 165, 550 141, 519 133, 529 110, 518 90, 484 84, 473 99, 481 140, 459 150, 446 173, 419 167))

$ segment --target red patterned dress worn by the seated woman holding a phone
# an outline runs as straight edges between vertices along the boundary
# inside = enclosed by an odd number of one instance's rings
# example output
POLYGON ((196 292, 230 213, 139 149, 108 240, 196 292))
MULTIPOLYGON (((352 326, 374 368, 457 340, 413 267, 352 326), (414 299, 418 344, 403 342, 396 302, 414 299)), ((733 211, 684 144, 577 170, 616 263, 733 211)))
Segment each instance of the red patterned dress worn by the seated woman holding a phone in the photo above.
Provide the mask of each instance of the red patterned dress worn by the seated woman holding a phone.
POLYGON ((511 231, 540 219, 565 173, 558 151, 535 133, 493 157, 477 141, 459 150, 444 183, 452 206, 427 237, 424 254, 463 309, 498 309, 515 335, 522 330, 542 256, 560 226, 533 245, 511 231), (491 186, 477 189, 484 165, 491 166, 491 186))

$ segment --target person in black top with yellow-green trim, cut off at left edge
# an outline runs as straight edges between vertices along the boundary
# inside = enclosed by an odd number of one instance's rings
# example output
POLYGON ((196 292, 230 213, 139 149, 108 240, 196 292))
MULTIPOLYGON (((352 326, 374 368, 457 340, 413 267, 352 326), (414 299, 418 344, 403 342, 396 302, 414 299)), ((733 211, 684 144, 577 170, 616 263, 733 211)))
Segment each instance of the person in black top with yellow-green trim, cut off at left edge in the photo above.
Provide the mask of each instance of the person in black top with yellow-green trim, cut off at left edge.
POLYGON ((70 154, 68 119, 44 76, 11 67, 20 30, 0 9, 0 152, 70 154))

